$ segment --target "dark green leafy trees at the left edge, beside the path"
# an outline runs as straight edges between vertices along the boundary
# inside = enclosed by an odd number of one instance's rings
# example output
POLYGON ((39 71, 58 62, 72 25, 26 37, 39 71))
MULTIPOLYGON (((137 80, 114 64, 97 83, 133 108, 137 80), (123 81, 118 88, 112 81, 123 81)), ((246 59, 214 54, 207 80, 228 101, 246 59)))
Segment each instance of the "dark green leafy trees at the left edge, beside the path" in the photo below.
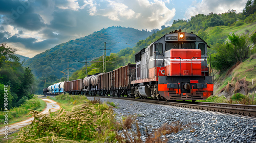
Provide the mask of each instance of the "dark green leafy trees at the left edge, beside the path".
POLYGON ((33 97, 34 77, 29 67, 24 68, 15 50, 0 44, 0 105, 1 111, 22 105, 33 97), (4 105, 8 101, 8 105, 4 105))

